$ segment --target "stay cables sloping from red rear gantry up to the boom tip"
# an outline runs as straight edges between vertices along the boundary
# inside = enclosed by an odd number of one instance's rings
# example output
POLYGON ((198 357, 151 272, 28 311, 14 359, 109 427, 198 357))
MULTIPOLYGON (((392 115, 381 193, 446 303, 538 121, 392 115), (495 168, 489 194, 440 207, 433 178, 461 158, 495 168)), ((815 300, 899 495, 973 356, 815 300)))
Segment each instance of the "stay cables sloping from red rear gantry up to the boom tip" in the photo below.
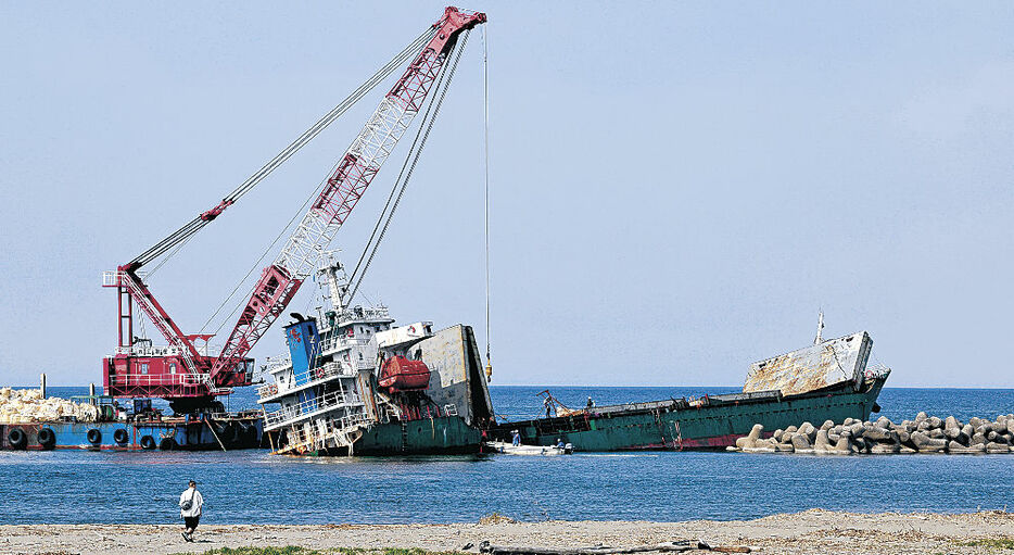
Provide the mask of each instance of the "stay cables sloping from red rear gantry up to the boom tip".
MULTIPOLYGON (((292 157, 293 154, 299 152, 303 147, 305 147, 310 140, 313 140, 317 135, 326 129, 329 125, 334 123, 335 119, 341 117, 350 108, 352 108, 356 102, 359 101, 367 92, 373 89, 379 83, 385 79, 391 73, 405 63, 407 60, 418 55, 420 49, 427 42, 432 39, 435 35, 436 29, 433 27, 428 28, 422 35, 419 35, 415 40, 413 40, 404 50, 395 54, 388 63, 385 63, 380 70, 377 71, 370 78, 368 78, 363 85, 354 90, 348 97, 341 101, 337 106, 331 109, 327 114, 325 114, 320 119, 317 121, 309 129, 303 131, 295 140, 289 143, 288 147, 282 149, 281 152, 275 155, 270 161, 268 161, 264 166, 261 167, 257 172, 246 178, 239 187, 237 187, 231 193, 226 195, 221 200, 219 206, 228 206, 229 204, 235 203, 239 200, 240 197, 250 192, 257 184, 259 184, 265 177, 271 174, 278 166, 284 163, 287 160, 292 157)), ((136 267, 143 266, 144 264, 150 263, 154 258, 165 254, 167 251, 170 251, 174 247, 177 247, 181 242, 187 241, 191 236, 200 231, 204 226, 206 226, 211 219, 205 219, 203 215, 199 215, 195 218, 191 219, 189 223, 177 229, 175 232, 163 239, 162 241, 155 243, 153 247, 138 255, 131 261, 131 264, 136 267)), ((176 254, 179 249, 173 251, 173 254, 176 254)))

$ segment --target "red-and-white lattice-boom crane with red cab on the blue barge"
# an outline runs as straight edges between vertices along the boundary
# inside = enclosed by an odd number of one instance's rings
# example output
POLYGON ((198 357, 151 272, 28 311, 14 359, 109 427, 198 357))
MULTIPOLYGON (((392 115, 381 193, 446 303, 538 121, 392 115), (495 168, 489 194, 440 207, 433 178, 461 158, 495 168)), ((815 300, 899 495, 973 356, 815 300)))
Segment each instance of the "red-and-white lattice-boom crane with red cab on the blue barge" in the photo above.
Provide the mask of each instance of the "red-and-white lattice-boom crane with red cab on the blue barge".
POLYGON ((303 281, 317 269, 320 253, 338 234, 409 124, 426 105, 427 96, 442 78, 442 70, 460 34, 485 21, 483 13, 454 7, 445 9, 440 20, 402 54, 257 174, 130 262, 104 273, 103 287, 117 292, 118 314, 115 352, 102 361, 106 394, 165 399, 177 414, 214 413, 223 409, 218 398, 230 394, 233 388, 250 386, 254 369, 254 360, 248 356, 251 349, 286 311, 303 281), (144 281, 143 269, 154 261, 175 253, 219 217, 278 164, 390 74, 395 67, 393 62, 402 60, 410 60, 407 68, 328 176, 274 262, 263 269, 225 345, 218 353, 212 353, 207 342, 213 335, 183 332, 155 299, 144 281), (147 338, 135 336, 138 312, 154 324, 167 344, 155 346, 147 338))

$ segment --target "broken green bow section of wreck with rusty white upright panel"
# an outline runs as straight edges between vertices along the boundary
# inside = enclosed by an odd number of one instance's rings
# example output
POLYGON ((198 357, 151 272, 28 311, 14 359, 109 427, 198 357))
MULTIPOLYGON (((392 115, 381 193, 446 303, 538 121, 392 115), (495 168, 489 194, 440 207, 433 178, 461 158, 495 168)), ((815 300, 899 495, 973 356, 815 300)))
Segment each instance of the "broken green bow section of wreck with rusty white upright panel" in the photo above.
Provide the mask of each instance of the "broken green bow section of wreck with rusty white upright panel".
POLYGON ((774 430, 802 421, 865 420, 879 412, 888 368, 867 369, 865 331, 753 363, 742 393, 667 399, 571 409, 552 394, 556 416, 499 424, 491 439, 522 444, 570 443, 574 451, 708 450, 734 445, 755 424, 774 430))

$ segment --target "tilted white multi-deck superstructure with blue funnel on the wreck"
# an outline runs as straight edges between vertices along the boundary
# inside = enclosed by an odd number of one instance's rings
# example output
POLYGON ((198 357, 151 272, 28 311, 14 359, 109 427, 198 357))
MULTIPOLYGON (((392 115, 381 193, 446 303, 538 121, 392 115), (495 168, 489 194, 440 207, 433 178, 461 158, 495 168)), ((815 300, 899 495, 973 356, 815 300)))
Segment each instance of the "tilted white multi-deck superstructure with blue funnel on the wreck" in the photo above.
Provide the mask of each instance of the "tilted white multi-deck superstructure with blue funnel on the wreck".
POLYGON ((370 427, 401 419, 400 405, 377 388, 383 362, 413 360, 411 346, 433 335, 431 321, 395 327, 382 305, 346 306, 347 277, 327 258, 318 272, 319 329, 316 319, 302 317, 288 326, 290 357, 272 361, 266 368, 271 381, 257 390, 262 408, 278 404, 264 409, 264 431, 281 443, 272 445, 276 453, 345 447, 352 454, 370 427))

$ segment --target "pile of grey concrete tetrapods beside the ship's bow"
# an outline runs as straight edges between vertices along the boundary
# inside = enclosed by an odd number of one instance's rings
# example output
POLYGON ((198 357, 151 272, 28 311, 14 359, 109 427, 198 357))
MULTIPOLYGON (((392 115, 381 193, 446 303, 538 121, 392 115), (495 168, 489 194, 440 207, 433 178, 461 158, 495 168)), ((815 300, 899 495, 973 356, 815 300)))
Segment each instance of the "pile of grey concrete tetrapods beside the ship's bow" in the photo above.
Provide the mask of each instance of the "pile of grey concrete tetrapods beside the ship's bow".
POLYGON ((756 424, 750 433, 736 440, 728 451, 747 453, 1011 453, 1014 445, 1014 414, 996 420, 971 418, 963 424, 953 416, 940 419, 920 413, 914 420, 895 424, 882 416, 875 421, 846 418, 841 424, 810 422, 775 430, 763 438, 756 424))

